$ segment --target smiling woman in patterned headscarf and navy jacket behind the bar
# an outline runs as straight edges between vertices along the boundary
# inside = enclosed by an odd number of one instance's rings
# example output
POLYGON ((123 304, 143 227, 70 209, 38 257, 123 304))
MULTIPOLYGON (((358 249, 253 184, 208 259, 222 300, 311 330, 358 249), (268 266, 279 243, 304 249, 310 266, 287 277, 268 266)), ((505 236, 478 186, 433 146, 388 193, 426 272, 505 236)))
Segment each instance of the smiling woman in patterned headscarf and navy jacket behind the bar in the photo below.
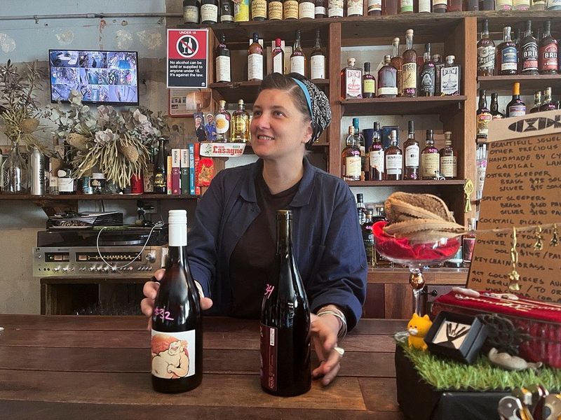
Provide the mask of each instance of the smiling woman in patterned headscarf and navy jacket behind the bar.
MULTIPOLYGON (((356 203, 346 183, 310 165, 306 145, 331 121, 327 97, 296 73, 263 80, 253 106, 251 145, 259 157, 224 169, 197 205, 189 233, 189 266, 215 313, 259 318, 275 258, 278 209, 291 209, 293 245, 308 295, 313 377, 327 385, 339 372, 337 338, 356 325, 366 290, 366 257, 356 203)), ((156 273, 161 279, 163 270, 156 273)), ((144 286, 151 316, 158 283, 144 286)))

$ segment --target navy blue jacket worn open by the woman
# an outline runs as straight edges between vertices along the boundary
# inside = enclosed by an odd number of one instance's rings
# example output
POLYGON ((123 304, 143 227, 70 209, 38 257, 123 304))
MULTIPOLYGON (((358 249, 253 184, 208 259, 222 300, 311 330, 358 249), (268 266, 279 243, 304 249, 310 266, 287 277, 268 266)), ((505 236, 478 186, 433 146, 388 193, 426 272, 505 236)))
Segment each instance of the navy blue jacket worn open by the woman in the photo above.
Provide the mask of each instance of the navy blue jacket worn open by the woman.
MULTIPOLYGON (((229 260, 238 240, 259 214, 255 177, 263 161, 224 169, 198 202, 189 232, 189 267, 214 313, 231 304, 229 260)), ((304 158, 304 176, 290 203, 292 239, 311 311, 326 304, 344 309, 349 330, 362 314, 367 264, 354 197, 342 179, 304 158)), ((259 255, 255 255, 259 258, 259 255)))

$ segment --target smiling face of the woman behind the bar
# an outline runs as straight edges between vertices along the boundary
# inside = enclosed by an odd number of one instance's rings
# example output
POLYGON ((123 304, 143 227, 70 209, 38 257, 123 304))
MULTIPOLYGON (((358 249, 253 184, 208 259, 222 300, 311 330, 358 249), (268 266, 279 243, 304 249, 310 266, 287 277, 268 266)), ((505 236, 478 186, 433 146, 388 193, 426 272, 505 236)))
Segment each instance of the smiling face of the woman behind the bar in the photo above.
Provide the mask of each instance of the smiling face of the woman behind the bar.
POLYGON ((292 96, 278 89, 259 93, 250 131, 252 149, 264 160, 304 156, 304 145, 312 134, 311 123, 304 120, 292 96))

